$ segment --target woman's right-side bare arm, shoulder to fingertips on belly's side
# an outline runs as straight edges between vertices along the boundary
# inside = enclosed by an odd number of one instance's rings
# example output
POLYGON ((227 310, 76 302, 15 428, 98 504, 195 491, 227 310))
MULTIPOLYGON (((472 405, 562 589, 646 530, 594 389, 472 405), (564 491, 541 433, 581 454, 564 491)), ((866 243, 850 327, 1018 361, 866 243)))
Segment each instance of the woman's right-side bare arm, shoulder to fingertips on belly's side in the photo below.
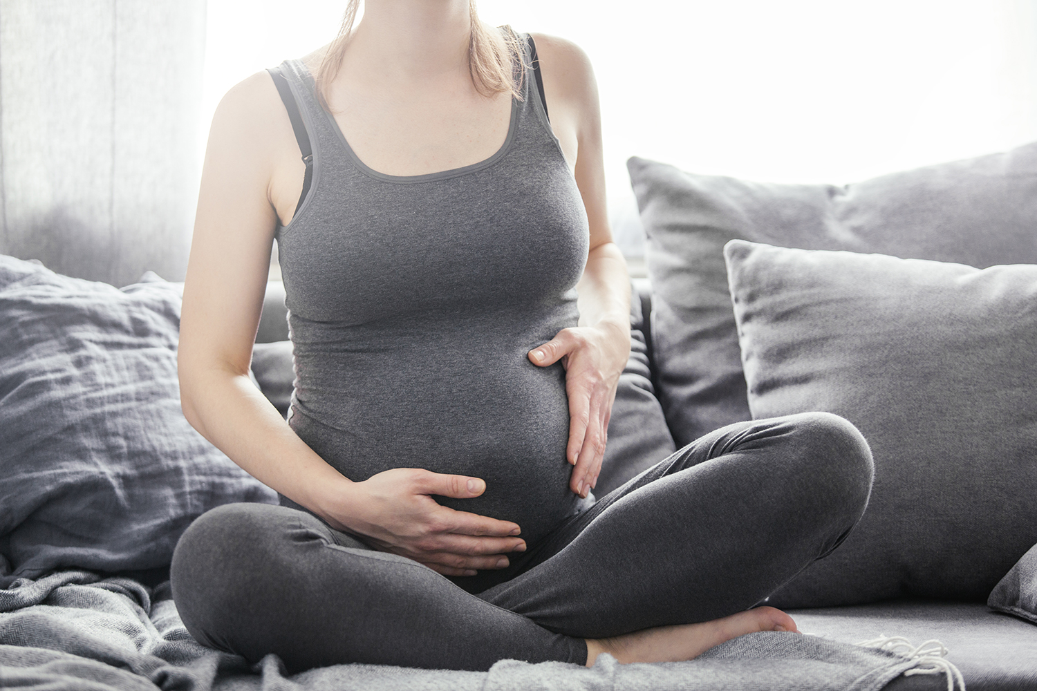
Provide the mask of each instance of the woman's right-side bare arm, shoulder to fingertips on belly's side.
POLYGON ((586 496, 597 483, 619 375, 630 350, 630 288, 626 261, 612 241, 606 210, 601 116, 587 55, 573 44, 534 34, 551 126, 573 169, 590 225, 590 252, 580 294, 580 325, 531 351, 540 366, 559 359, 569 399, 566 457, 569 487, 586 496), (540 354, 542 353, 542 356, 540 354))

